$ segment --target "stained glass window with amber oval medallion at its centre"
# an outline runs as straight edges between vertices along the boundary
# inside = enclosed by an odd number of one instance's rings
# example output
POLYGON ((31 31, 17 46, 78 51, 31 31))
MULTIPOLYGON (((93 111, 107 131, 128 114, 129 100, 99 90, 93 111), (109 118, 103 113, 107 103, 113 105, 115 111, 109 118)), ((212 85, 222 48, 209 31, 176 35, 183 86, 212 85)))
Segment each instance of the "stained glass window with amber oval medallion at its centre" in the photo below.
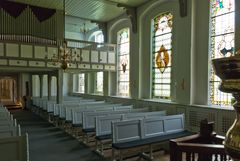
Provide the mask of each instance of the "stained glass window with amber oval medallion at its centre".
POLYGON ((152 34, 152 97, 170 99, 172 23, 170 12, 153 19, 152 34))

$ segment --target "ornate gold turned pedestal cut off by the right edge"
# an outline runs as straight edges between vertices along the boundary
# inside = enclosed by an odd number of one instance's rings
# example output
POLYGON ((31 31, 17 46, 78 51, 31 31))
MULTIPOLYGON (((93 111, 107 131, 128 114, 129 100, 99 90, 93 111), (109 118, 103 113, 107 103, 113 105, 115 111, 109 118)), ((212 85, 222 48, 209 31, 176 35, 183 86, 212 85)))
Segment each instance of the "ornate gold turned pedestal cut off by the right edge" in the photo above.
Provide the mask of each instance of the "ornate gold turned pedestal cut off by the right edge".
POLYGON ((222 80, 219 89, 232 93, 236 99, 233 104, 236 119, 226 134, 224 146, 233 161, 240 161, 240 57, 213 59, 212 64, 216 75, 222 80))

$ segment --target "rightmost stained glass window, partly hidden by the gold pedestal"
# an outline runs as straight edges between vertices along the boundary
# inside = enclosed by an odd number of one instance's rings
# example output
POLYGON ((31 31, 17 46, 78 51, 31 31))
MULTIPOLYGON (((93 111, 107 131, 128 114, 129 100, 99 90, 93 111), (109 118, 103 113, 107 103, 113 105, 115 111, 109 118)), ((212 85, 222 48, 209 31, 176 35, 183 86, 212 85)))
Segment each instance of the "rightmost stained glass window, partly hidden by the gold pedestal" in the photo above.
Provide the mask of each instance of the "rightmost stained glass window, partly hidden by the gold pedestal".
MULTIPOLYGON (((211 0, 211 58, 231 56, 234 52, 234 0, 211 0)), ((209 96, 214 105, 231 105, 231 94, 218 90, 220 79, 210 69, 209 96)))

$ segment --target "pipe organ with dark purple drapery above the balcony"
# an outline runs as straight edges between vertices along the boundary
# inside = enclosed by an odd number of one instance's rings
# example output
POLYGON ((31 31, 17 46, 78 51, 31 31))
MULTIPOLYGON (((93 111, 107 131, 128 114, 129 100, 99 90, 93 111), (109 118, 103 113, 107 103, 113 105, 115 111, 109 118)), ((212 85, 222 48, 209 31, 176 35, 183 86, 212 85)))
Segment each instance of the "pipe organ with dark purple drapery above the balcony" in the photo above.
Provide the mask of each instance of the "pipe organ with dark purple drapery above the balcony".
POLYGON ((64 37, 63 11, 0 1, 0 40, 58 45, 64 37))

